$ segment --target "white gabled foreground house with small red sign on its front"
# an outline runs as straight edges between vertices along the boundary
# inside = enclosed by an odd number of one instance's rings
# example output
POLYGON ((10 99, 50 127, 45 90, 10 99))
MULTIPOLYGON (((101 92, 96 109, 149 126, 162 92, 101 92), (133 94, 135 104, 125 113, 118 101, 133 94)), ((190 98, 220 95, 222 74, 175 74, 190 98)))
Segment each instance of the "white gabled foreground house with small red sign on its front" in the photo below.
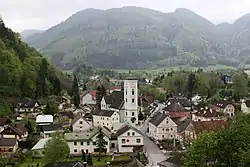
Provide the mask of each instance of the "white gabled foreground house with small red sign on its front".
POLYGON ((122 126, 117 132, 118 152, 129 153, 133 149, 140 149, 144 146, 142 133, 128 124, 122 126))

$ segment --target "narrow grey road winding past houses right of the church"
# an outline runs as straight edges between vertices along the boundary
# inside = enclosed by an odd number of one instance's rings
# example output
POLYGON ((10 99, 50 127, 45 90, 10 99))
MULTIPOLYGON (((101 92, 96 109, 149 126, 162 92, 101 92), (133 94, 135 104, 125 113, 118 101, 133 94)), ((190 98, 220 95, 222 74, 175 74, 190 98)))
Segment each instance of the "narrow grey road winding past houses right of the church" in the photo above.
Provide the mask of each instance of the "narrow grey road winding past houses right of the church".
MULTIPOLYGON (((164 106, 159 105, 159 108, 155 110, 155 112, 158 112, 161 110, 164 106)), ((153 114, 153 113, 152 113, 153 114)), ((160 148, 148 138, 147 136, 147 128, 148 128, 148 121, 151 118, 148 118, 144 125, 140 128, 141 132, 144 135, 144 147, 148 156, 149 165, 147 167, 158 167, 157 163, 164 161, 167 159, 166 155, 160 150, 160 148)))

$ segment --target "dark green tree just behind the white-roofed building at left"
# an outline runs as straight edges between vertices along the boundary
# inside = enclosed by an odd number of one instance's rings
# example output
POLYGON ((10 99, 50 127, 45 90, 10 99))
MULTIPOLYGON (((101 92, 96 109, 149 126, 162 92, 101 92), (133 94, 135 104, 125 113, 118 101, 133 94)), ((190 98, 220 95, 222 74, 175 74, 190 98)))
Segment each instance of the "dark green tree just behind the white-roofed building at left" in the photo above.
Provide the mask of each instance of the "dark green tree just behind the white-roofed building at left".
POLYGON ((46 107, 44 109, 44 114, 49 114, 55 116, 59 113, 59 103, 55 96, 49 96, 46 107))

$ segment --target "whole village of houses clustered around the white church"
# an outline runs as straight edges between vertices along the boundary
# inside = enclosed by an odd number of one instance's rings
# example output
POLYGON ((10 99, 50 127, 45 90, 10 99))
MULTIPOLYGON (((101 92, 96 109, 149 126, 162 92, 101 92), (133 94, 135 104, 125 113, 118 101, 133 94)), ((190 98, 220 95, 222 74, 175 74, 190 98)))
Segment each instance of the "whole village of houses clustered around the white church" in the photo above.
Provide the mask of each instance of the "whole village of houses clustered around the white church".
MULTIPOLYGON (((1 154, 28 151, 26 140, 33 133, 37 142, 30 149, 32 163, 39 166, 37 159, 43 157, 46 143, 54 134, 61 133, 70 157, 94 156, 100 152, 101 133, 104 142, 101 152, 112 156, 112 160, 123 156, 126 159, 129 155, 133 161, 125 160, 130 162, 127 166, 133 163, 163 167, 171 164, 167 161, 171 152, 185 152, 202 132, 227 128, 236 113, 232 101, 204 105, 202 96, 189 99, 176 93, 160 103, 153 95, 140 93, 137 79, 113 82, 116 86, 103 97, 100 97, 101 83, 96 90, 82 91, 79 106, 72 104, 68 94, 63 94, 55 115, 44 113, 46 106, 38 100, 18 102, 12 118, 0 118, 1 154)), ((242 101, 241 110, 250 112, 250 100, 242 101)), ((80 162, 76 159, 74 163, 80 162)), ((108 166, 110 162, 103 163, 108 166)))

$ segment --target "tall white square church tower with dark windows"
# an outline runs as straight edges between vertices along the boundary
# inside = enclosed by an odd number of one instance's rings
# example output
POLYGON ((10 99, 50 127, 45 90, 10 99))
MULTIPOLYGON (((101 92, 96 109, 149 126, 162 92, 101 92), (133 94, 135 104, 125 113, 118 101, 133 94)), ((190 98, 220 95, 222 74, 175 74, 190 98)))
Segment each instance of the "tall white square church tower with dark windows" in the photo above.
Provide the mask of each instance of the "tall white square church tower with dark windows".
POLYGON ((138 81, 124 80, 124 121, 131 125, 138 124, 138 81))

